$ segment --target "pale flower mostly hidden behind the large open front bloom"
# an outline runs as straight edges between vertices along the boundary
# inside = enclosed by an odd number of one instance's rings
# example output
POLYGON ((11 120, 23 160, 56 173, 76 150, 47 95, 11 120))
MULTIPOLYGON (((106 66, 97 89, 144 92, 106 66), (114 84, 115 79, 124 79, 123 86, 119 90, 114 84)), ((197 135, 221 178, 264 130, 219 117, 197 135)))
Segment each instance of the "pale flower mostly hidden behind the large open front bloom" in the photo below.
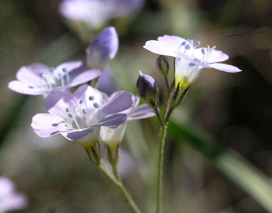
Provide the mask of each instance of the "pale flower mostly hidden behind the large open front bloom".
MULTIPOLYGON (((113 93, 109 98, 109 101, 111 101, 111 99, 119 95, 120 92, 113 93)), ((154 110, 147 104, 141 104, 140 106, 138 106, 140 101, 139 96, 132 96, 132 100, 133 100, 132 106, 126 111, 121 112, 126 113, 127 117, 119 127, 117 128, 101 127, 100 136, 102 138, 102 141, 111 150, 115 150, 123 140, 126 131, 127 121, 153 117, 156 115, 154 110)))

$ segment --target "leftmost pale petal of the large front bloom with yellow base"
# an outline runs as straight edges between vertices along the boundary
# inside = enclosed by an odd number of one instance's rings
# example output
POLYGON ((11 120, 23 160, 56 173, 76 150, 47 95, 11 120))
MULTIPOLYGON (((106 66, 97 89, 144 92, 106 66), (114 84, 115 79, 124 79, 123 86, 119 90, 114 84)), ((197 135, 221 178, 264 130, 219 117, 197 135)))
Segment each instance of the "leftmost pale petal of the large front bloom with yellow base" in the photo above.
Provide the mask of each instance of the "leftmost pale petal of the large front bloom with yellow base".
POLYGON ((59 131, 67 131, 69 126, 59 116, 48 113, 40 113, 32 118, 31 127, 42 138, 52 137, 59 131))

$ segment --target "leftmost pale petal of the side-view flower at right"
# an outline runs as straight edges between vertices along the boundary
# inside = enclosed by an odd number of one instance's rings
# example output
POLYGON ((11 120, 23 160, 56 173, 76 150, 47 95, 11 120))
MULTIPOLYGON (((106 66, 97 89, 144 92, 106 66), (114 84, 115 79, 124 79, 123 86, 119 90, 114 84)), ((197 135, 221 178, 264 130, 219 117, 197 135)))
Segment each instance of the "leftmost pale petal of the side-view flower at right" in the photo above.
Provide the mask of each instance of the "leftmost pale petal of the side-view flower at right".
POLYGON ((150 40, 146 42, 146 45, 143 48, 151 51, 152 53, 156 53, 159 55, 169 55, 176 57, 177 48, 174 48, 168 44, 165 44, 160 41, 150 40))

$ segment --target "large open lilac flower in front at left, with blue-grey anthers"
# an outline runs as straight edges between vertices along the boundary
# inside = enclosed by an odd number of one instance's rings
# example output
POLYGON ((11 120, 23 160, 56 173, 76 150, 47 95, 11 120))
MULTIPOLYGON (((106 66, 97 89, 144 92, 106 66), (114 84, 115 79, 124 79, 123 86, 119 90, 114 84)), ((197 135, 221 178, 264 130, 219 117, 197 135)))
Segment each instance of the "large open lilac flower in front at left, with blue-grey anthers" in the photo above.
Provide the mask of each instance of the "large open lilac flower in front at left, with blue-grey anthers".
POLYGON ((32 128, 42 138, 62 134, 77 140, 85 148, 95 148, 101 126, 118 127, 126 119, 122 112, 131 107, 132 95, 120 91, 107 100, 105 93, 88 85, 80 86, 74 94, 52 92, 44 100, 48 113, 32 118, 32 128))

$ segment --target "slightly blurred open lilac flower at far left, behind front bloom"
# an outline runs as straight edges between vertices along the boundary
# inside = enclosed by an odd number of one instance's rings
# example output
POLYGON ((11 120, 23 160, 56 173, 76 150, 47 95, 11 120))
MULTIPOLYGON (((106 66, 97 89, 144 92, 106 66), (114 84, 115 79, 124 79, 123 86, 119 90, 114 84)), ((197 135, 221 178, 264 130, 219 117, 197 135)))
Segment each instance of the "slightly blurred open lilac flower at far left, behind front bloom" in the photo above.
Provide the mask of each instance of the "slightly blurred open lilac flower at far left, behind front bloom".
POLYGON ((8 88, 23 94, 46 96, 51 91, 69 89, 101 75, 100 70, 84 71, 85 68, 82 61, 65 62, 56 68, 39 63, 22 66, 16 74, 17 80, 9 82, 8 88))

